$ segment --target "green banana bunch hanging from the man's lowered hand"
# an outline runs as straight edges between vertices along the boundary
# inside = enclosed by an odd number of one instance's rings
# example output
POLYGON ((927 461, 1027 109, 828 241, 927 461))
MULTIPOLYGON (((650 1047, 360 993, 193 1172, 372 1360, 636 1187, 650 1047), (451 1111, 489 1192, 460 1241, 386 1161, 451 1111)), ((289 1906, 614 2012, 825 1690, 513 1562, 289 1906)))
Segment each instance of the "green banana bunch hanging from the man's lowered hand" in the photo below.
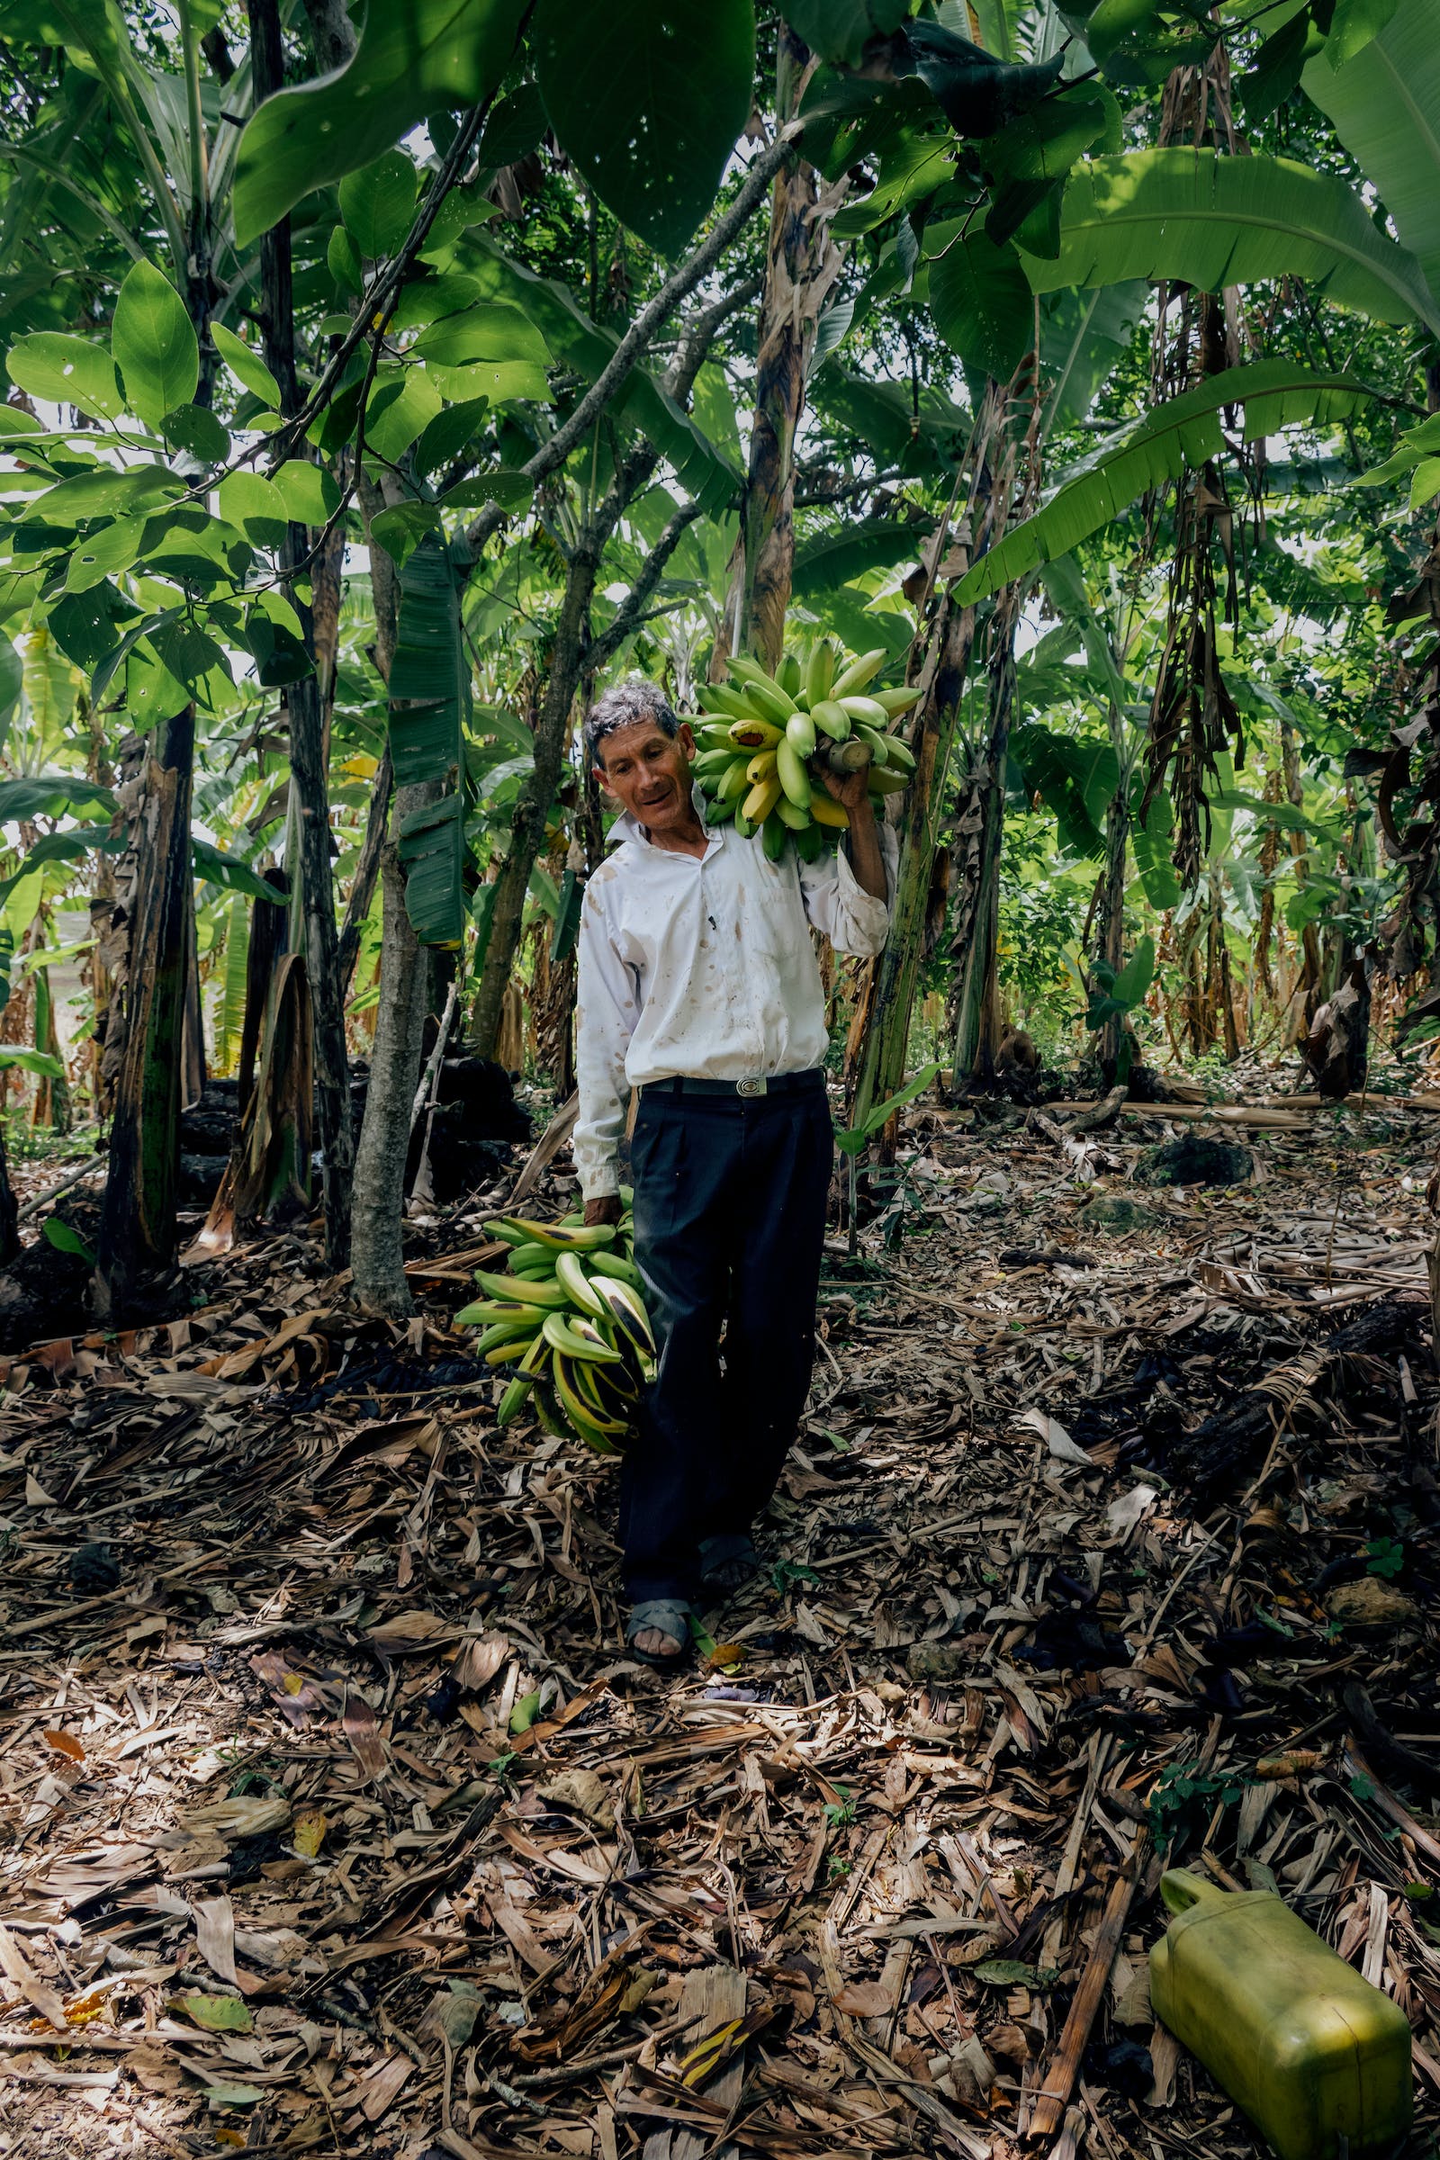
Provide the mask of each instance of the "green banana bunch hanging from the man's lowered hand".
POLYGON ((486 1223, 510 1246, 510 1274, 477 1270, 486 1292, 456 1313, 456 1324, 484 1328, 477 1350, 486 1365, 514 1365, 497 1423, 507 1426, 533 1395, 546 1432, 574 1432, 598 1456, 624 1445, 639 1391, 654 1367, 654 1335, 630 1248, 633 1194, 622 1194, 620 1227, 566 1216, 486 1223))

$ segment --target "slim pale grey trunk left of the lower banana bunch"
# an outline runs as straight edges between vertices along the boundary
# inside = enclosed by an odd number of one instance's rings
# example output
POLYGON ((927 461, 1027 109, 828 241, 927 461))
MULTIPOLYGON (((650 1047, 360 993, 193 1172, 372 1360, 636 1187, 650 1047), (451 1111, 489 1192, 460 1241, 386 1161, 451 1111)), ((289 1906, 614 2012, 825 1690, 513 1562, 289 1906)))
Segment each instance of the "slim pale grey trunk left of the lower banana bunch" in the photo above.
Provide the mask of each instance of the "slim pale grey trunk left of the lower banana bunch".
POLYGON ((440 782, 395 791, 391 836, 380 851, 380 1002, 361 1145, 354 1158, 354 1294, 367 1311, 406 1320, 415 1298, 404 1268, 410 1106, 430 1009, 430 966, 406 914, 406 873, 395 847, 408 816, 440 799, 440 782))

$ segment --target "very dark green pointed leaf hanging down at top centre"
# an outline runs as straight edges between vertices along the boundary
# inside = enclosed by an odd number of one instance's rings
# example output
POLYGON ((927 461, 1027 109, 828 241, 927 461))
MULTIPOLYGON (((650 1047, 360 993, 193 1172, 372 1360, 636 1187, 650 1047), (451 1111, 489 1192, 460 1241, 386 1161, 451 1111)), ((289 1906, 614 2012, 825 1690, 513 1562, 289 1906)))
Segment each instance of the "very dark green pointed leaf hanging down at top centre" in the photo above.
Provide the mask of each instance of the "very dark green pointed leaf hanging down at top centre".
POLYGON ((751 0, 540 0, 531 43, 568 156, 622 225, 676 255, 749 119, 751 0))

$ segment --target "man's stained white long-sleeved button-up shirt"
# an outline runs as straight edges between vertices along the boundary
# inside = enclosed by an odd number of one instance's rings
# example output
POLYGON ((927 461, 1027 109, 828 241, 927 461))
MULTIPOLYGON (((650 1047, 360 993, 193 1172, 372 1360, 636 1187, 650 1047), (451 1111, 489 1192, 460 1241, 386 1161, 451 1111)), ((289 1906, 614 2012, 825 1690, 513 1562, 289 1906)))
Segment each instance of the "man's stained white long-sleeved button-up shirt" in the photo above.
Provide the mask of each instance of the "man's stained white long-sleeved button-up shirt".
MULTIPOLYGON (((704 804, 695 793, 704 823, 704 804)), ((633 1086, 654 1080, 773 1080, 825 1063, 825 994, 807 924, 838 953, 879 953, 889 905, 844 849, 771 862, 760 838, 706 825, 704 855, 652 847, 620 819, 581 909, 574 1162, 585 1199, 615 1192, 615 1149, 633 1086)), ((881 825, 894 892, 896 840, 881 825)))

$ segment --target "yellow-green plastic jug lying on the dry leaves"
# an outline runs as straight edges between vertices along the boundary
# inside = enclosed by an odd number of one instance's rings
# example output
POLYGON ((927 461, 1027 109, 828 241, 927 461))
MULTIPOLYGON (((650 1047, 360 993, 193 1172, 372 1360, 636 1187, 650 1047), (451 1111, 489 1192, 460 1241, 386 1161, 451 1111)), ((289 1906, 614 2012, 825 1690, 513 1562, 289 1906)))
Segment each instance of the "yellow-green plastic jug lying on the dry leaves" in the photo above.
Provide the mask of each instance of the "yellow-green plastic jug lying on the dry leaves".
POLYGON ((1170 1868, 1151 2002, 1280 2160, 1380 2151, 1410 2128, 1410 2022, 1269 1890, 1170 1868), (1345 2141, 1345 2143, 1341 2143, 1345 2141))

